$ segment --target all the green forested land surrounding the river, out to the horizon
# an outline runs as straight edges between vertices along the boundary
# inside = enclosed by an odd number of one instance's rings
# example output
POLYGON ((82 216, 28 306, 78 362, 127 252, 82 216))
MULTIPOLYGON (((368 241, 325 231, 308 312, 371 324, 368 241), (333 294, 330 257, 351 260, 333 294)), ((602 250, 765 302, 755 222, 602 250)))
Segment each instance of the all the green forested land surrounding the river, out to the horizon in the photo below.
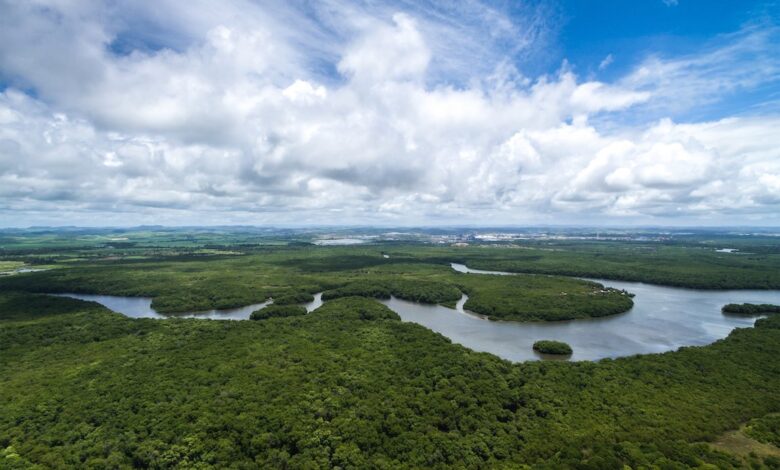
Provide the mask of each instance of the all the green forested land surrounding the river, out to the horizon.
POLYGON ((630 293, 551 274, 777 288, 767 237, 729 238, 739 254, 702 237, 309 240, 0 234, 5 266, 46 269, 0 277, 0 468, 780 468, 717 445, 741 426, 778 443, 780 316, 705 347, 511 363, 374 300, 452 306, 466 294, 467 309, 513 321, 610 315, 630 309, 630 293), (169 313, 274 306, 263 321, 130 319, 45 292, 148 296, 169 313), (317 292, 325 304, 304 314, 317 292))

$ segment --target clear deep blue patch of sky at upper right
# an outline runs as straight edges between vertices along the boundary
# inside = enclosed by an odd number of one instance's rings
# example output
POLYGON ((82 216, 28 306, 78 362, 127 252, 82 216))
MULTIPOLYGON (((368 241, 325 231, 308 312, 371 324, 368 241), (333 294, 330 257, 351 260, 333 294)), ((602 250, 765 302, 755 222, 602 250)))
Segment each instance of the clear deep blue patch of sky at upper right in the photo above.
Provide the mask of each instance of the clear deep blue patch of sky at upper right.
MULTIPOLYGON (((743 29, 776 27, 780 12, 777 2, 765 1, 572 1, 562 3, 561 9, 560 55, 552 66, 565 59, 579 73, 605 81, 619 80, 648 56, 696 55, 728 44, 743 29), (601 64, 605 66, 600 69, 601 64)), ((780 50, 777 32, 767 46, 780 50)), ((772 96, 780 97, 777 79, 674 117, 715 119, 749 113, 772 96)))

